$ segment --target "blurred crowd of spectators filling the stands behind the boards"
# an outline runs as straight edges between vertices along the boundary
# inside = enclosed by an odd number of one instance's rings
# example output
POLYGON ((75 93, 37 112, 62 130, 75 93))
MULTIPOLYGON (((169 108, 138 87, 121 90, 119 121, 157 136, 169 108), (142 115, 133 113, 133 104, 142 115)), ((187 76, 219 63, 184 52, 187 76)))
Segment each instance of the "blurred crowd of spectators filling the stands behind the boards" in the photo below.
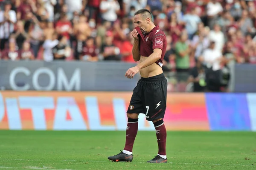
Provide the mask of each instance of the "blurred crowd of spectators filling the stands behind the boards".
POLYGON ((134 62, 133 17, 147 8, 168 40, 164 71, 256 63, 256 0, 0 0, 0 7, 0 59, 134 62))

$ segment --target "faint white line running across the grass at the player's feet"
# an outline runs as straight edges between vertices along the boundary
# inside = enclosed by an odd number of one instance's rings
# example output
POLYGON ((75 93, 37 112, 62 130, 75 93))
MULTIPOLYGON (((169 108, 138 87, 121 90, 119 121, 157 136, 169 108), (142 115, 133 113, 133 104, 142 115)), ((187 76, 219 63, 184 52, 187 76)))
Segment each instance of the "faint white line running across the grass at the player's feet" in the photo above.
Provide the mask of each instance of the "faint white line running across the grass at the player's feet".
MULTIPOLYGON (((26 160, 31 160, 31 161, 51 161, 50 159, 0 159, 0 160, 17 160, 17 161, 26 161, 26 160)), ((109 161, 92 161, 92 160, 75 160, 75 159, 64 159, 62 161, 79 161, 79 162, 109 162, 109 161)), ((146 164, 147 162, 133 162, 137 164, 146 164)), ((204 163, 174 163, 174 162, 168 162, 167 164, 194 164, 194 165, 219 165, 219 166, 255 166, 252 164, 204 164, 204 163)), ((49 170, 49 169, 48 169, 49 170)), ((57 169, 52 169, 52 170, 57 170, 57 169)))

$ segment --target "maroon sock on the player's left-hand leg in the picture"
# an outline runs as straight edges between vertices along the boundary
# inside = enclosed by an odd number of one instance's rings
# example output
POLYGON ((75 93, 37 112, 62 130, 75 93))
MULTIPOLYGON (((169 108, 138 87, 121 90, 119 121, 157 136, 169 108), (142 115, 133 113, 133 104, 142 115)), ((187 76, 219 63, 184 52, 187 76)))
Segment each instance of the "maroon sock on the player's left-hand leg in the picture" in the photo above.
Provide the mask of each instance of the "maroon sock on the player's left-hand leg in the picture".
POLYGON ((138 121, 139 119, 128 118, 127 127, 126 127, 125 148, 123 150, 123 153, 125 154, 128 154, 128 155, 132 154, 132 147, 138 132, 138 121))

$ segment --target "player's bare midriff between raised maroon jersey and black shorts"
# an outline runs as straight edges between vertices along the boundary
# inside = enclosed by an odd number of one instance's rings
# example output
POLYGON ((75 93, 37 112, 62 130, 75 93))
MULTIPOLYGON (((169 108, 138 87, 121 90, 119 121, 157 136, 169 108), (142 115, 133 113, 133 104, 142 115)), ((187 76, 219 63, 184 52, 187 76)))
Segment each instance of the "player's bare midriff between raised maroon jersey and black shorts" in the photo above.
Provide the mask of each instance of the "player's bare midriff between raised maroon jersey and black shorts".
MULTIPOLYGON (((148 57, 140 56, 140 62, 143 62, 148 57)), ((153 77, 157 76, 159 74, 162 74, 163 70, 160 67, 160 65, 157 65, 156 63, 153 63, 149 65, 148 67, 140 69, 140 76, 143 78, 153 77)))

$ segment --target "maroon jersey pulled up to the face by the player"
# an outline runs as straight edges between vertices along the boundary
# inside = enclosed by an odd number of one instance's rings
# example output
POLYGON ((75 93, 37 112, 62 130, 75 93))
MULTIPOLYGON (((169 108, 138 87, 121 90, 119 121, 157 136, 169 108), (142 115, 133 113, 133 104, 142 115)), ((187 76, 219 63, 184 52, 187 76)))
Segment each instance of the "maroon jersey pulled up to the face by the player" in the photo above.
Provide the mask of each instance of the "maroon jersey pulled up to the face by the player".
POLYGON ((144 37, 140 37, 140 55, 144 57, 150 56, 155 48, 160 48, 162 50, 161 59, 156 63, 157 65, 163 66, 163 57, 166 52, 166 35, 162 30, 159 29, 159 26, 154 27, 148 34, 143 34, 144 37), (145 39, 145 42, 142 40, 145 39))

